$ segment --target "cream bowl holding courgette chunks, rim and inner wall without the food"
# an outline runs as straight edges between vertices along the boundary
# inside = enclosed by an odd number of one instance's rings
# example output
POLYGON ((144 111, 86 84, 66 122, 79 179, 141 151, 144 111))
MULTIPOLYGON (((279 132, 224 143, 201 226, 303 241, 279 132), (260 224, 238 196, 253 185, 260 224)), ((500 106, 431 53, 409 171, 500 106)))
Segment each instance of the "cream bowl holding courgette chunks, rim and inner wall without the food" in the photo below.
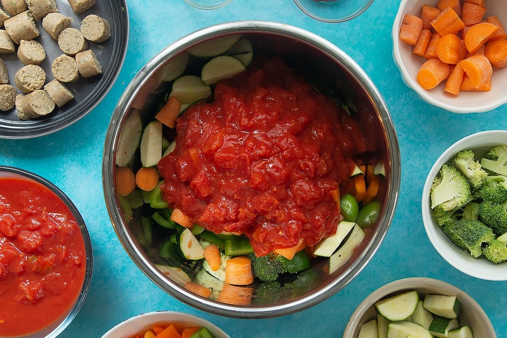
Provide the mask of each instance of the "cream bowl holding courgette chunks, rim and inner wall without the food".
POLYGON ((496 338, 491 321, 474 298, 451 284, 425 277, 396 280, 373 291, 355 309, 345 327, 343 338, 357 338, 361 325, 376 318, 377 313, 373 308, 374 303, 382 298, 409 290, 417 290, 420 297, 425 294, 457 296, 461 301, 461 308, 458 314, 459 325, 468 325, 474 332, 475 337, 496 338))

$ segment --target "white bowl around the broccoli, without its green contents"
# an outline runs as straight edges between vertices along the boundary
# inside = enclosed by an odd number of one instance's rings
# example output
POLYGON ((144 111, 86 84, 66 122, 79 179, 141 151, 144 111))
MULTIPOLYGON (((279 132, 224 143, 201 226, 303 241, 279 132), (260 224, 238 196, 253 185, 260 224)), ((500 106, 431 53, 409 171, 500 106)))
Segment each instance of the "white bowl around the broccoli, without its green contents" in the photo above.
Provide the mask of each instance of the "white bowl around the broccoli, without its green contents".
POLYGON ((447 262, 462 273, 472 277, 503 281, 507 280, 507 263, 493 264, 484 257, 474 258, 468 252, 457 247, 444 234, 440 227, 431 216, 430 190, 431 183, 437 176, 444 163, 449 161, 454 155, 463 149, 471 150, 476 158, 480 158, 493 146, 507 142, 506 130, 489 130, 466 136, 451 145, 435 162, 424 184, 422 191, 422 221, 426 234, 431 244, 447 260, 447 262))

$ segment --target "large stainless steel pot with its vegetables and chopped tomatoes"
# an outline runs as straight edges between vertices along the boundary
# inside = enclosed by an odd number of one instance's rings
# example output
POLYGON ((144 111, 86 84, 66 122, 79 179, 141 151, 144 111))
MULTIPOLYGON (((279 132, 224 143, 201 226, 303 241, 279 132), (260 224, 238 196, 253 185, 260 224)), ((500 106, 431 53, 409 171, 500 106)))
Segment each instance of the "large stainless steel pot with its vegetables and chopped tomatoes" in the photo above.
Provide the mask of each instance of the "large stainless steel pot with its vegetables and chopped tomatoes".
POLYGON ((389 112, 333 44, 272 22, 202 29, 121 97, 104 147, 113 226, 180 301, 265 318, 347 285, 380 246, 400 185, 389 112))

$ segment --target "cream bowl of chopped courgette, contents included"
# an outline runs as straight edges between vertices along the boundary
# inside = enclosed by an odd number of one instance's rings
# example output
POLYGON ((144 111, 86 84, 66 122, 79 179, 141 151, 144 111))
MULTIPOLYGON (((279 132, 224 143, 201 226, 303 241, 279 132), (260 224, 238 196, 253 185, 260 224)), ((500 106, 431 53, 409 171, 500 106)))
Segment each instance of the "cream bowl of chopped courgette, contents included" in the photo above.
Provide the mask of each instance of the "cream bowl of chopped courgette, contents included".
POLYGON ((354 311, 343 338, 491 337, 496 333, 481 306, 449 283, 405 278, 373 291, 354 311))

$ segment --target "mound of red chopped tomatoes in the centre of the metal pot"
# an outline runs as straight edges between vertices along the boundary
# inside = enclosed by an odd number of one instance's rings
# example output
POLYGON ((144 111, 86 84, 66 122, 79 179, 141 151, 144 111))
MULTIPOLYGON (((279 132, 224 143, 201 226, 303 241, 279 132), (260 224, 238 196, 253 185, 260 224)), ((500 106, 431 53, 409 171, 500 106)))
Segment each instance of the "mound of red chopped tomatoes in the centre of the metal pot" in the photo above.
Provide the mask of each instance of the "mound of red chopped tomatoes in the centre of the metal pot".
POLYGON ((215 233, 243 233, 257 255, 336 232, 331 193, 349 181, 359 124, 279 58, 216 85, 176 123, 160 160, 163 199, 215 233))

